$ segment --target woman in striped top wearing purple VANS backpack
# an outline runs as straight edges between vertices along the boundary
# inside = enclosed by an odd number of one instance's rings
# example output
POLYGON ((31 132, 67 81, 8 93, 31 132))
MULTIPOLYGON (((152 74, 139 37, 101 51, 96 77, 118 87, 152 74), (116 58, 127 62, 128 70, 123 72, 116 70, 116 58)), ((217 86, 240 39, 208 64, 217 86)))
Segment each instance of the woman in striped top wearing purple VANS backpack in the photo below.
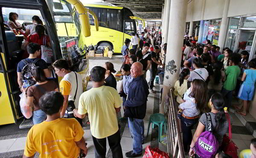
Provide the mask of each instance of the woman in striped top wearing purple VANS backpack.
MULTIPOLYGON (((211 158, 216 155, 221 147, 223 136, 229 128, 229 121, 226 119, 224 107, 225 101, 221 93, 214 93, 209 101, 212 111, 204 113, 195 131, 192 143, 190 144, 189 155, 195 158, 211 158)), ((228 114, 230 123, 232 117, 228 114)))

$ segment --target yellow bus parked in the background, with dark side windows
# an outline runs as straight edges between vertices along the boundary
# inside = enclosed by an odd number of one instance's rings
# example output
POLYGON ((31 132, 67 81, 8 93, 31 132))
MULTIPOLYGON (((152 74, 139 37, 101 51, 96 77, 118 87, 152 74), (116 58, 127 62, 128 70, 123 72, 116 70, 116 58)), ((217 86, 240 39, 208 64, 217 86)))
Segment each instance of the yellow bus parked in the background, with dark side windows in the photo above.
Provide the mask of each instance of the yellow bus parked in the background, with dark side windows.
MULTIPOLYGON (((131 17, 134 14, 125 7, 105 6, 83 3, 85 8, 93 11, 98 17, 99 31, 91 27, 92 35, 85 41, 86 45, 108 46, 113 53, 121 53, 126 38, 131 39, 131 33, 137 33, 136 22, 131 17)), ((90 25, 94 25, 89 16, 90 25)))

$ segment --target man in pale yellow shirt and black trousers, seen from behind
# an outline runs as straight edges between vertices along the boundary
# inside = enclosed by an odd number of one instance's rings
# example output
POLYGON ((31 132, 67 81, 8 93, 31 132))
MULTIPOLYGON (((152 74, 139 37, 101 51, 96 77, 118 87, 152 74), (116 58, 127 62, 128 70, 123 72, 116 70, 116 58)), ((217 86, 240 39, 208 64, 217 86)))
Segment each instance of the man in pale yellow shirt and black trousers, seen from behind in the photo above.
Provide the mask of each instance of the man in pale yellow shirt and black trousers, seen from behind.
POLYGON ((95 158, 105 158, 106 138, 108 138, 113 158, 122 158, 121 136, 116 118, 116 113, 121 109, 122 100, 116 89, 103 85, 105 73, 106 69, 100 66, 96 66, 90 71, 93 87, 82 93, 74 115, 84 118, 88 113, 95 158))

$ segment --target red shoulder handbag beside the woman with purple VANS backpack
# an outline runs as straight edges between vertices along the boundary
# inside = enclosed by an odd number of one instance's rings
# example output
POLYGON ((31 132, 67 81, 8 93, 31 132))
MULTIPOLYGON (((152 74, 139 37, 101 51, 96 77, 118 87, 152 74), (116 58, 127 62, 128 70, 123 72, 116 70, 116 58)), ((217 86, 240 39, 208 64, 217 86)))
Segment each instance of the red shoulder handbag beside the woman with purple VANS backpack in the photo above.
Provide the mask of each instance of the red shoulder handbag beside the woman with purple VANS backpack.
POLYGON ((226 134, 223 136, 223 141, 222 141, 222 150, 225 154, 230 155, 232 158, 238 158, 238 147, 236 144, 232 141, 232 129, 231 129, 231 123, 230 123, 230 118, 228 113, 225 113, 227 120, 228 120, 228 133, 229 136, 226 134))

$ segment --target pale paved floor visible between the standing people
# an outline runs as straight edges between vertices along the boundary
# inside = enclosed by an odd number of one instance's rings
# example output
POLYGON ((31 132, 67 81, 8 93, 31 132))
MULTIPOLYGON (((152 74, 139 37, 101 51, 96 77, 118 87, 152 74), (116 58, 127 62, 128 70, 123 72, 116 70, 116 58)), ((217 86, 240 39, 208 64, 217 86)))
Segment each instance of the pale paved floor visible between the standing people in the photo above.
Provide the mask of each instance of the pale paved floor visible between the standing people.
MULTIPOLYGON (((105 62, 112 62, 116 71, 120 69, 121 60, 91 60, 90 59, 90 69, 93 66, 99 65, 103 66, 105 62)), ((149 80, 149 72, 147 73, 147 80, 149 80)), ((117 90, 119 90, 121 82, 117 82, 117 90)), ((88 89, 91 88, 91 82, 88 84, 88 89)), ((156 93, 148 96, 147 102, 147 111, 146 116, 144 118, 144 125, 145 125, 145 136, 148 130, 148 119, 152 113, 159 113, 159 101, 160 101, 160 88, 161 85, 156 84, 154 90, 156 93)), ((123 108, 121 109, 121 114, 123 116, 123 108)), ((253 138, 251 133, 244 127, 244 125, 239 121, 239 118, 233 113, 231 113, 233 117, 233 141, 239 147, 239 151, 243 149, 250 148, 250 139, 253 138)), ((26 142, 26 134, 29 129, 19 129, 19 124, 22 120, 18 121, 18 124, 9 124, 0 126, 0 158, 22 158, 23 149, 26 142)), ((132 150, 132 138, 131 133, 128 128, 127 120, 120 121, 119 124, 121 125, 121 146, 123 155, 125 152, 132 150)), ((88 147, 88 155, 87 158, 94 158, 94 147, 93 141, 90 133, 90 127, 83 127, 84 128, 84 138, 87 142, 88 147)), ((195 127, 196 128, 196 127, 195 127)), ((195 132, 195 129, 192 130, 195 132)), ((164 133, 163 133, 164 135, 164 133)), ((143 153, 145 152, 145 147, 151 145, 151 147, 159 147, 160 150, 166 152, 166 146, 162 143, 158 143, 158 128, 152 127, 149 128, 149 135, 145 138, 145 144, 143 144, 143 153)), ((38 157, 38 155, 36 156, 38 157)), ((107 158, 112 158, 111 150, 107 147, 107 158)), ((142 158, 143 156, 140 156, 142 158)), ((124 156, 125 158, 125 156, 124 156)))

